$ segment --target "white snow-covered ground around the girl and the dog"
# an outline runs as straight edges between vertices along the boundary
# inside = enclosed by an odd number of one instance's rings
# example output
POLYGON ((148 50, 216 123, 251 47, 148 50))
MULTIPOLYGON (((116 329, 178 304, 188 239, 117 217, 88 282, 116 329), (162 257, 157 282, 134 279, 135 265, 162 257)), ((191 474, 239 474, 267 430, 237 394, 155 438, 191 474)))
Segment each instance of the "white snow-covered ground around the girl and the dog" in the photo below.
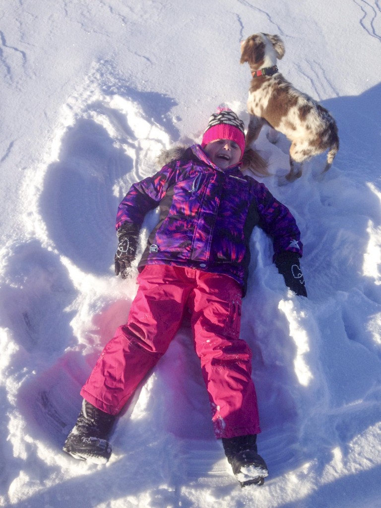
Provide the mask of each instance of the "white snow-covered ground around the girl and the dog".
MULTIPOLYGON (((0 22, 0 505, 381 506, 379 0, 8 0, 0 22), (336 118, 340 150, 280 185, 289 142, 255 145, 302 232, 308 299, 252 235, 242 338, 269 477, 241 489, 185 323, 118 419, 107 465, 61 452, 79 390, 128 314, 113 274, 117 205, 225 103, 247 125, 240 41, 278 34, 295 87, 336 118)), ((141 239, 155 221, 147 216, 141 239)))

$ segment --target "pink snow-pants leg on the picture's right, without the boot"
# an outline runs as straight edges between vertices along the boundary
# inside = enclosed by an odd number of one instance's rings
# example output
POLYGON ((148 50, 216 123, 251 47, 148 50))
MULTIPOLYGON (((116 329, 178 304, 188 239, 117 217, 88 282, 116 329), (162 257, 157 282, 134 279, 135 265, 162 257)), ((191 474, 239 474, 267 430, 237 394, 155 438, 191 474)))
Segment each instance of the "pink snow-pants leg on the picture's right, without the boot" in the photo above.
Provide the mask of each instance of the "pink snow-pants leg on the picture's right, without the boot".
POLYGON ((241 289, 226 275, 197 272, 192 328, 216 437, 258 434, 261 430, 251 379, 251 351, 239 339, 241 289))

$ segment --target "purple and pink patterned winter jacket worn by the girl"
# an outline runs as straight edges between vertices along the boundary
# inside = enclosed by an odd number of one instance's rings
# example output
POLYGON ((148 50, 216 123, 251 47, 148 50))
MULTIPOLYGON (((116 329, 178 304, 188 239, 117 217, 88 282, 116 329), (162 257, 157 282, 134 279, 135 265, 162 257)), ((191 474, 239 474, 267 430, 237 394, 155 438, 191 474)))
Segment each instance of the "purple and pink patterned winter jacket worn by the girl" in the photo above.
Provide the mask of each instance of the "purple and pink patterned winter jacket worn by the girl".
POLYGON ((244 176, 239 166, 221 170, 200 145, 181 160, 134 183, 119 205, 116 228, 140 231, 145 214, 160 207, 159 221, 139 263, 170 264, 223 273, 245 291, 250 261, 249 238, 255 226, 273 239, 274 256, 302 256, 300 231, 287 207, 262 183, 244 176))

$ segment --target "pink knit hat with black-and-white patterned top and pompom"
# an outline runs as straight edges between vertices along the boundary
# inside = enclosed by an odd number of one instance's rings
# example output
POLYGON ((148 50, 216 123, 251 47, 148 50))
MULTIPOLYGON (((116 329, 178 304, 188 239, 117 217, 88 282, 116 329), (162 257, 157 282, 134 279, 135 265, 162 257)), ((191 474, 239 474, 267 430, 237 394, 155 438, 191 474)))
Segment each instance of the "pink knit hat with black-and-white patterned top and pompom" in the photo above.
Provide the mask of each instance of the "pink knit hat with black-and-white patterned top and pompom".
POLYGON ((242 120, 229 108, 217 108, 209 118, 208 126, 202 138, 201 147, 204 148, 211 141, 230 139, 235 141, 241 149, 241 157, 245 150, 245 125, 242 120))

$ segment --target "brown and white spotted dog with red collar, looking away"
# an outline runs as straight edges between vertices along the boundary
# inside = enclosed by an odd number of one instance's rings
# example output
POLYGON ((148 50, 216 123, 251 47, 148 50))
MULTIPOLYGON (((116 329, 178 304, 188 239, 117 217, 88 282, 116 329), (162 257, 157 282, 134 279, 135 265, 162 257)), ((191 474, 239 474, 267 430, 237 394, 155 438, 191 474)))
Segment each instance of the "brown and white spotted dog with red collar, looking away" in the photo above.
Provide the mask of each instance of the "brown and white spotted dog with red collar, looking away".
POLYGON ((277 35, 254 34, 241 44, 241 63, 249 63, 252 75, 246 146, 258 138, 265 123, 284 134, 291 141, 286 178, 293 181, 301 176, 304 161, 329 150, 327 171, 339 149, 339 137, 330 113, 280 74, 276 60, 283 55, 284 44, 277 35))

